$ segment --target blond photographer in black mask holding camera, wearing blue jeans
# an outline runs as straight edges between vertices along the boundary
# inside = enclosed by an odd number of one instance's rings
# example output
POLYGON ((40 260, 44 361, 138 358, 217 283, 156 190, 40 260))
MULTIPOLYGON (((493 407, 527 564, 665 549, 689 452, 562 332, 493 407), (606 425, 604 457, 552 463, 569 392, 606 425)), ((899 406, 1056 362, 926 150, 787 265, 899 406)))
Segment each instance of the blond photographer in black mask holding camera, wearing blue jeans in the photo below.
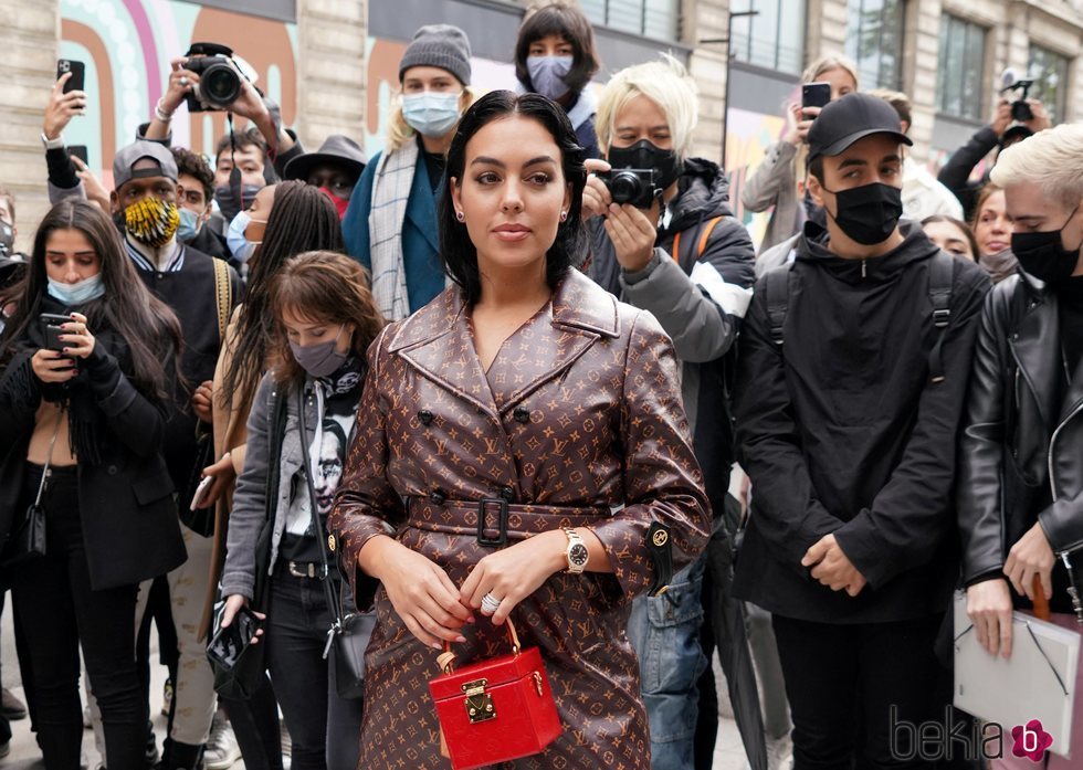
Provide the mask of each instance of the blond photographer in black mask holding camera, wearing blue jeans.
MULTIPOLYGON (((691 768, 693 762, 696 682, 707 668, 700 645, 701 588, 712 553, 729 548, 721 527, 733 462, 725 357, 754 277, 755 251, 733 218, 725 173, 709 160, 688 157, 697 110, 694 82, 670 56, 618 72, 598 105, 596 125, 606 160, 586 161, 592 173, 582 196, 592 253, 588 275, 624 302, 650 310, 673 339, 682 361, 684 408, 716 516, 708 551, 673 577, 665 595, 638 597, 632 605, 629 637, 640 655, 656 770, 691 768), (663 619, 673 616, 681 622, 662 629, 661 623, 670 623, 663 619), (660 644, 669 632, 675 632, 675 642, 660 644)), ((725 601, 725 576, 709 579, 715 597, 725 601)), ((719 646, 727 642, 745 641, 719 634, 719 646)), ((730 683, 740 681, 724 666, 730 683)), ((755 703, 735 710, 738 724, 753 719, 758 728, 756 682, 750 667, 745 673, 742 685, 749 685, 746 692, 755 703)), ((707 716, 717 719, 714 711, 707 716)))

